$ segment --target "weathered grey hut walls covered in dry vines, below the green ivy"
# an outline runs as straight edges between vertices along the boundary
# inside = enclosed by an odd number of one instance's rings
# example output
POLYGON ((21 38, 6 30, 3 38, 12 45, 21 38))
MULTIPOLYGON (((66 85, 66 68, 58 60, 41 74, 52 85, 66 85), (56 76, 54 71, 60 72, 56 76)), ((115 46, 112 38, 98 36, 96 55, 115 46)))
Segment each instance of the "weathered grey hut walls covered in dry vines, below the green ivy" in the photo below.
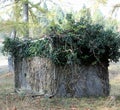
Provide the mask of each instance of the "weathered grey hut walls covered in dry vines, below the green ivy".
POLYGON ((56 66, 47 58, 28 58, 15 64, 16 88, 55 97, 109 95, 108 67, 77 64, 56 66))

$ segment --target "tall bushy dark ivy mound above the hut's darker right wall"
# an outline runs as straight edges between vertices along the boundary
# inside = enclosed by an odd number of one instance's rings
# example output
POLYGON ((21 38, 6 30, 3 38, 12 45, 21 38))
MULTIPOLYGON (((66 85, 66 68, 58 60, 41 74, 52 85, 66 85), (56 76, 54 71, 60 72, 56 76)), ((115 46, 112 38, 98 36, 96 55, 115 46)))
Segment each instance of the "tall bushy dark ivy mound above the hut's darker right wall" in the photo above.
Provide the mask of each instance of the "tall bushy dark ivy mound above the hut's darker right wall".
MULTIPOLYGON (((92 21, 87 13, 75 21, 72 14, 66 15, 67 23, 49 27, 57 63, 82 65, 109 64, 120 57, 120 35, 113 26, 92 21)), ((54 53, 53 53, 54 54, 54 53)))

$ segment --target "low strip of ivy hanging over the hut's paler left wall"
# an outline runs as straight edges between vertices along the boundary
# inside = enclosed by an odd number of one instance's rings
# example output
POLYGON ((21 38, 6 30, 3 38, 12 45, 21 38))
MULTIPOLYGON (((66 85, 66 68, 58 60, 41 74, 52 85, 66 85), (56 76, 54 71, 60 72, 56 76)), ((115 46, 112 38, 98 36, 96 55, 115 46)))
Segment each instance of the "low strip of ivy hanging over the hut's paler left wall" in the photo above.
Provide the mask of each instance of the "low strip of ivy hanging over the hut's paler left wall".
POLYGON ((21 60, 28 57, 48 57, 50 52, 49 40, 21 40, 19 38, 5 38, 2 52, 21 60))

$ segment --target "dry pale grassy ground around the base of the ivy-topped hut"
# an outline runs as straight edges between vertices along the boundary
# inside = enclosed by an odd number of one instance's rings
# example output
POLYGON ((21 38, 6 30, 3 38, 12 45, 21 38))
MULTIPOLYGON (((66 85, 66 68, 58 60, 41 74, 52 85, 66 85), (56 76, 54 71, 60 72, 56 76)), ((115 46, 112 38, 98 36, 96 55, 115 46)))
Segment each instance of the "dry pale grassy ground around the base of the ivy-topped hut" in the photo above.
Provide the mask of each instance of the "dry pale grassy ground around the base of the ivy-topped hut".
POLYGON ((111 93, 107 98, 24 97, 14 93, 13 74, 1 74, 0 110, 120 110, 119 68, 113 65, 109 69, 114 75, 110 76, 111 93))

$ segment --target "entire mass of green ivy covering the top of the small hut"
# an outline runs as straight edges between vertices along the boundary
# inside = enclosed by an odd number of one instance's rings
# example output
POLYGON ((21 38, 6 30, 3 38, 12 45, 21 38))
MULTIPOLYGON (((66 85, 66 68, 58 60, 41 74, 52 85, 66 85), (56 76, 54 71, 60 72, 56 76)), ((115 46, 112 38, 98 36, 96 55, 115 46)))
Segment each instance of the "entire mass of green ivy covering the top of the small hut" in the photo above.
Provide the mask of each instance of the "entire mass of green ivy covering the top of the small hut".
POLYGON ((72 14, 67 14, 66 22, 51 23, 47 36, 37 41, 6 38, 3 52, 18 58, 47 57, 63 66, 72 63, 108 65, 120 57, 119 33, 92 22, 90 17, 82 16, 75 21, 72 14))

